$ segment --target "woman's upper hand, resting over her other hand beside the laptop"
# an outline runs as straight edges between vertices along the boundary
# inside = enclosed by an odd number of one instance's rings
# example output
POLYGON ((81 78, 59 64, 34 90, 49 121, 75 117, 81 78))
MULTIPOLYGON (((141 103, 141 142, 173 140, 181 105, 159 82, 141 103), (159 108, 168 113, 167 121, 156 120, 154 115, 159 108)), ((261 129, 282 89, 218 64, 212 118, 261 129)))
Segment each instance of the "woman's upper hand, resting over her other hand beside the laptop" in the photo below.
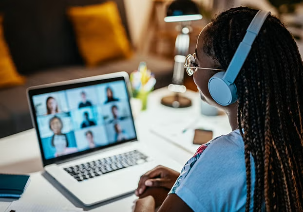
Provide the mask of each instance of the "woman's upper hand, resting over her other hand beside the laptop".
POLYGON ((159 165, 140 177, 135 194, 140 196, 145 192, 147 187, 164 187, 171 189, 179 175, 179 172, 159 165))

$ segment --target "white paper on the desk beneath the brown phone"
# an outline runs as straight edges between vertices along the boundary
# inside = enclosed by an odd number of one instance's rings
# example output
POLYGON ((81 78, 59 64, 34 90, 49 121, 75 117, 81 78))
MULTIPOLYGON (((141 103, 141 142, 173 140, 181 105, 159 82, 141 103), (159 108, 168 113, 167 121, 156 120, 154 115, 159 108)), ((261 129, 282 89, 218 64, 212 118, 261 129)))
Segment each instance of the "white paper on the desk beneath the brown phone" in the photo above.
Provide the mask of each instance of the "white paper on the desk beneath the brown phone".
POLYGON ((193 144, 194 129, 213 131, 213 138, 228 134, 231 129, 226 115, 165 117, 152 124, 152 133, 194 154, 200 145, 193 144), (194 118, 190 118, 194 117, 194 118))

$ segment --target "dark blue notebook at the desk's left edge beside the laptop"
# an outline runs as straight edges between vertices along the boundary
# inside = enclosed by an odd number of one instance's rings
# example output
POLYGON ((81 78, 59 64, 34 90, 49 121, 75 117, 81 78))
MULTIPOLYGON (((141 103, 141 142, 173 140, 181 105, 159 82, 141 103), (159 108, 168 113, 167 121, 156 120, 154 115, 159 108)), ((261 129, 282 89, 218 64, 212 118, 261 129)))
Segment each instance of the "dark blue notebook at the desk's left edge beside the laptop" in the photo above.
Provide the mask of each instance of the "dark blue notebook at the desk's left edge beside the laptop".
POLYGON ((20 198, 29 181, 29 175, 0 174, 0 198, 20 198))

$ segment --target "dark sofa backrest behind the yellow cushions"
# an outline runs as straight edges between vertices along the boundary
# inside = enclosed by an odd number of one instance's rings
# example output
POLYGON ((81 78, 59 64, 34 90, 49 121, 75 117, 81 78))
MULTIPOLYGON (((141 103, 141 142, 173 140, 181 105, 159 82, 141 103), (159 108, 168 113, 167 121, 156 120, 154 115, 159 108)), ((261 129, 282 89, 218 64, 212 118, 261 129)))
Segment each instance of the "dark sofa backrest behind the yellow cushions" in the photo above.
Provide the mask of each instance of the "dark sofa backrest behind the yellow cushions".
MULTIPOLYGON (((4 35, 20 73, 83 64, 72 25, 66 16, 70 6, 105 0, 0 0, 4 35)), ((124 0, 114 0, 128 33, 124 0)), ((129 34, 128 34, 129 35, 129 34)))

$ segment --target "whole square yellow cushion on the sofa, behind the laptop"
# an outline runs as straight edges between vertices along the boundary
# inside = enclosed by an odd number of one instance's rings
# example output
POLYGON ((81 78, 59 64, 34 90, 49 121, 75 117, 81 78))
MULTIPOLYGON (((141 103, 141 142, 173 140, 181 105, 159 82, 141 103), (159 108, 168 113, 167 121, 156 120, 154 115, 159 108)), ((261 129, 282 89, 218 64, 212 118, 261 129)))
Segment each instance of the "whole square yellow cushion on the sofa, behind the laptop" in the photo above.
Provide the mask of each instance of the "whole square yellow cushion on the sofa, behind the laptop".
POLYGON ((117 5, 113 1, 71 7, 67 14, 74 25, 78 49, 87 66, 132 55, 117 5))

